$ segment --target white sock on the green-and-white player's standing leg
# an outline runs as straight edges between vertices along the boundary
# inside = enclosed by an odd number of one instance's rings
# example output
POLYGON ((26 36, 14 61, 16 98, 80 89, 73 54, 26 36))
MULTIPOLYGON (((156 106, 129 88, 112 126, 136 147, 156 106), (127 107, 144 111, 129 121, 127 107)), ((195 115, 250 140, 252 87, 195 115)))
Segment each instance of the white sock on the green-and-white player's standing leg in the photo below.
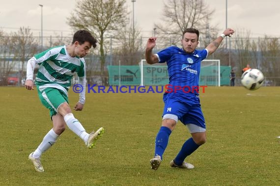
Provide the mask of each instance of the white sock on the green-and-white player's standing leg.
POLYGON ((55 144, 56 139, 59 136, 55 133, 53 129, 51 129, 46 136, 44 137, 41 144, 38 146, 38 148, 34 151, 32 157, 39 159, 43 152, 47 151, 53 144, 55 144))

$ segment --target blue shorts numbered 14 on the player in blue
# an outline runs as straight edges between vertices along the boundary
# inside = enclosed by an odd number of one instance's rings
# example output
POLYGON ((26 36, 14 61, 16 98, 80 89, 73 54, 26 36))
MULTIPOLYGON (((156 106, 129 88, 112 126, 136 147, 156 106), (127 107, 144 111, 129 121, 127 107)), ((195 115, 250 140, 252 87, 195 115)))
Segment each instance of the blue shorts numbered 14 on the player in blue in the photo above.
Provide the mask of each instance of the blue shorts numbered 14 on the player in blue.
POLYGON ((164 115, 175 115, 184 124, 195 124, 206 129, 205 119, 201 110, 199 97, 195 94, 189 96, 164 94, 164 115))

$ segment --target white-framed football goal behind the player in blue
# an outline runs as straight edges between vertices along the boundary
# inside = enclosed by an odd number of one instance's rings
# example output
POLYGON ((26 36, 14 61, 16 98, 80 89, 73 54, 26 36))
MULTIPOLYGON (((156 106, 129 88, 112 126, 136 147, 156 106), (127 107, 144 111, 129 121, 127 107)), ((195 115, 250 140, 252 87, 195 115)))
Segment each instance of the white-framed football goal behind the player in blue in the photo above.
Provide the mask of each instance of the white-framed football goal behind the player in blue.
MULTIPOLYGON (((141 74, 140 86, 168 84, 169 76, 166 63, 149 65, 146 60, 142 59, 139 66, 141 74)), ((199 85, 220 87, 221 75, 220 60, 203 60, 199 74, 199 85)))

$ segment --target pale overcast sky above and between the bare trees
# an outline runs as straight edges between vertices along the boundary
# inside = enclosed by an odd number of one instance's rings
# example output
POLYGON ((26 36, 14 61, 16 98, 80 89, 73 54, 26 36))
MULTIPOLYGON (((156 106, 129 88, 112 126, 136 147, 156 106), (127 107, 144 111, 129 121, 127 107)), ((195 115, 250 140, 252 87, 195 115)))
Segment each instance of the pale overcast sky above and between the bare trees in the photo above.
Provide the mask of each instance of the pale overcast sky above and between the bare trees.
MULTIPOLYGON (((41 7, 43 4, 43 36, 72 36, 66 18, 74 10, 77 0, 0 0, 0 29, 17 31, 29 26, 34 36, 41 30, 41 7)), ((161 20, 163 1, 136 0, 134 2, 135 25, 142 30, 142 36, 152 36, 153 25, 161 20)), ((215 9, 210 24, 218 25, 221 33, 225 28, 226 0, 205 0, 210 9, 215 9)), ((132 1, 127 7, 132 13, 132 1)), ((251 31, 252 37, 265 34, 280 37, 280 0, 227 0, 227 27, 240 32, 251 31)), ((132 16, 131 16, 132 17, 132 16)))

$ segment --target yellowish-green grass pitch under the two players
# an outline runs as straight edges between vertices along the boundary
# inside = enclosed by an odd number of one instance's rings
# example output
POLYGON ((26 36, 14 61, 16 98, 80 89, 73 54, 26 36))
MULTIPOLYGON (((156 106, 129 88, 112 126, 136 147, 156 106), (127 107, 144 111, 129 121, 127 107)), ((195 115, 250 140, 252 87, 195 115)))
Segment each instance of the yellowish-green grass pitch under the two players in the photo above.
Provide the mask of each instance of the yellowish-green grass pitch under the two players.
MULTIPOLYGON (((69 94, 73 108, 78 94, 69 94)), ((84 111, 74 115, 87 132, 103 126, 104 136, 87 149, 67 128, 43 154, 45 172, 38 173, 28 155, 52 128, 49 112, 36 91, 0 87, 0 185, 280 185, 280 87, 208 87, 200 100, 207 142, 187 158, 193 170, 168 165, 190 137, 180 122, 160 168, 150 170, 162 120, 161 93, 87 93, 84 111)))

